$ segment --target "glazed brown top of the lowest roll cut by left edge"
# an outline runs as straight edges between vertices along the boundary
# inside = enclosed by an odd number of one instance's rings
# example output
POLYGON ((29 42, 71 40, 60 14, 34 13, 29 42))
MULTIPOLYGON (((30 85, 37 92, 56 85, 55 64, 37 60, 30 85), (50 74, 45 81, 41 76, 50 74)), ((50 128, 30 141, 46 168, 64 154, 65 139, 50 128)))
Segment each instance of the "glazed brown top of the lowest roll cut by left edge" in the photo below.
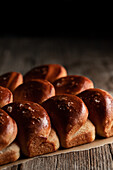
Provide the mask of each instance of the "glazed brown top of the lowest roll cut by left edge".
POLYGON ((0 109, 0 151, 7 147, 17 135, 16 122, 0 109))

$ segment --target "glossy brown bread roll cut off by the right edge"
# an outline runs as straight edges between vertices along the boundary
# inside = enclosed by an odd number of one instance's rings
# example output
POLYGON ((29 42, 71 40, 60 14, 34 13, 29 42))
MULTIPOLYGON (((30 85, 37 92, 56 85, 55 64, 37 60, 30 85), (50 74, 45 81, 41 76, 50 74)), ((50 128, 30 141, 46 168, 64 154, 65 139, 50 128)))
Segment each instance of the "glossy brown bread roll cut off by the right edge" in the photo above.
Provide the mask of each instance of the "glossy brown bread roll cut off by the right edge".
POLYGON ((88 89, 78 95, 89 110, 89 119, 98 135, 113 136, 113 98, 101 89, 88 89))

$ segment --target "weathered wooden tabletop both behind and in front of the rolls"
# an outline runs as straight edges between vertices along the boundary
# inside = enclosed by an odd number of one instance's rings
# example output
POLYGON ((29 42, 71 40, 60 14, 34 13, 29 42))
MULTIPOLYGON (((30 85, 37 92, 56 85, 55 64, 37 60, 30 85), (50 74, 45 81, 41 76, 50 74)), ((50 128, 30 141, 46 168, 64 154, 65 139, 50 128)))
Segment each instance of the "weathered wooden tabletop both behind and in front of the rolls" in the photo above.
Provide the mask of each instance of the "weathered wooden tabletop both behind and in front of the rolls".
MULTIPOLYGON (((47 63, 64 65, 68 74, 79 74, 94 81, 95 87, 113 95, 113 44, 110 41, 71 39, 0 39, 0 74, 25 73, 47 63)), ((5 169, 5 168, 4 168, 5 169)), ((52 157, 35 158, 7 170, 110 170, 113 169, 113 144, 52 157)))

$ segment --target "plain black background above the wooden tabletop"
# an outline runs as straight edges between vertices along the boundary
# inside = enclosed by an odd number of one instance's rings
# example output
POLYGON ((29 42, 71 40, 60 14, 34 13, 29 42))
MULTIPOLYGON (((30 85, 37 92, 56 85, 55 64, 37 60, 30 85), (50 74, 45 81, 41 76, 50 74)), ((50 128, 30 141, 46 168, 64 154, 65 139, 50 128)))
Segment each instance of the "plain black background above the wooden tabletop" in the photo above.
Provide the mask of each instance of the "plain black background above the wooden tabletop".
POLYGON ((13 5, 3 6, 0 37, 113 40, 110 4, 62 0, 13 5))

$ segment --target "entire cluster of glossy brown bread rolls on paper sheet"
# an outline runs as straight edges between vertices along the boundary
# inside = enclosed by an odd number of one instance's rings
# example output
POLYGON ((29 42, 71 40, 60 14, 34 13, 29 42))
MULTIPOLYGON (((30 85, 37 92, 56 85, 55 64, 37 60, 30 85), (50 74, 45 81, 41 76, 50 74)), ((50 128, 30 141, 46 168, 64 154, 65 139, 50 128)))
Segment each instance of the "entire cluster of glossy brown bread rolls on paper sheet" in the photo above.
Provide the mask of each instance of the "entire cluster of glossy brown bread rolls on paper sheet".
POLYGON ((0 76, 0 165, 113 135, 113 98, 58 64, 0 76))

